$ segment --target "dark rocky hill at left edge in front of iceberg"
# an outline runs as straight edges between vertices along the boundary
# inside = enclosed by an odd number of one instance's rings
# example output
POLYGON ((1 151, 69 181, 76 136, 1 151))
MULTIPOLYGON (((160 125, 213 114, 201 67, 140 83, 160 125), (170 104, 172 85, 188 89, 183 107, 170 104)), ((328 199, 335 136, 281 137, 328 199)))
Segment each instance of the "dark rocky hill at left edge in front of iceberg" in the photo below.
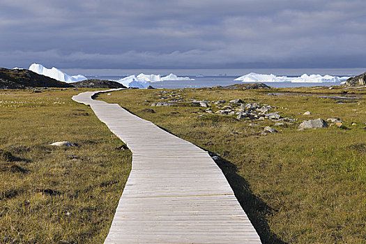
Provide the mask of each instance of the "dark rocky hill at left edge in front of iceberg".
POLYGON ((31 70, 0 68, 0 89, 26 87, 73 87, 73 85, 59 82, 44 75, 38 75, 31 70))

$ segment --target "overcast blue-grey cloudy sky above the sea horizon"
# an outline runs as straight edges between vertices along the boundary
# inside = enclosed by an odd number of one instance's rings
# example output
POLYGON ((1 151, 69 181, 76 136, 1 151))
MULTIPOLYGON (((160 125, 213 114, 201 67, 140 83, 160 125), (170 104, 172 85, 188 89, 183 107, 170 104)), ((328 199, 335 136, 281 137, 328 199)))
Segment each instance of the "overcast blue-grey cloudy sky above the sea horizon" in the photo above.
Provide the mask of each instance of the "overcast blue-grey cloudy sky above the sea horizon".
POLYGON ((0 0, 0 66, 365 68, 365 0, 0 0))

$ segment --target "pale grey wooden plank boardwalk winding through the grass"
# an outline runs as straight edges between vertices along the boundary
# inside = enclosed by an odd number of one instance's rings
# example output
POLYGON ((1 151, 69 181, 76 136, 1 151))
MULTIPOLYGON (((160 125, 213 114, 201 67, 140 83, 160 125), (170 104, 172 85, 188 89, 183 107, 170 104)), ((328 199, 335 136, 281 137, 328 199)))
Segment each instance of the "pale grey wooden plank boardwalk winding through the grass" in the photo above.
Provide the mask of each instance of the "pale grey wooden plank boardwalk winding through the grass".
POLYGON ((92 100, 94 93, 73 100, 90 105, 132 151, 132 170, 105 243, 261 243, 206 151, 119 105, 92 100))

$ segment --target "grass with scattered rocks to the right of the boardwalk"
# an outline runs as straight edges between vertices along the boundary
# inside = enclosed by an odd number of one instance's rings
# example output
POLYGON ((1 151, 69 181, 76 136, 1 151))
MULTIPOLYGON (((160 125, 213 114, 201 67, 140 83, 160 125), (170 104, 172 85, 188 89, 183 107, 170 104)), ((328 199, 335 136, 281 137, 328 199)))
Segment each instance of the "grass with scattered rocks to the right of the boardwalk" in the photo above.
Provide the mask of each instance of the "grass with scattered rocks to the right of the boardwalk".
MULTIPOLYGON (((343 90, 323 89, 319 93, 331 91, 342 95, 343 90)), ((365 96, 342 101, 317 96, 267 95, 313 93, 314 89, 309 88, 161 91, 119 91, 112 96, 101 94, 99 99, 117 102, 174 135, 220 155, 218 165, 264 243, 366 242, 365 96), (199 117, 203 109, 192 107, 189 102, 176 107, 151 107, 153 102, 172 97, 209 101, 241 98, 276 106, 282 116, 298 122, 275 127, 278 133, 260 135, 264 126, 273 126, 275 122, 239 121, 236 116, 217 114, 199 117), (304 116, 307 110, 312 115, 304 116), (344 121, 342 128, 332 125, 318 130, 297 130, 300 121, 333 117, 344 121), (249 123, 260 126, 252 127, 249 123)), ((211 107, 214 112, 218 109, 215 105, 211 107)))

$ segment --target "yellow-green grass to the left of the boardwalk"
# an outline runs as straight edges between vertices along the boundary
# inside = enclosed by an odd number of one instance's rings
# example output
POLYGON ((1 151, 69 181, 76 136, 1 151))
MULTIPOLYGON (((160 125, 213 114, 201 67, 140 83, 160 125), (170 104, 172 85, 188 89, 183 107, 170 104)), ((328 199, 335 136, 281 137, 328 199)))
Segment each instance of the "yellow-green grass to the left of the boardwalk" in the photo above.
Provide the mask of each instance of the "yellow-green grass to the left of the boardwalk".
POLYGON ((102 243, 130 151, 71 89, 0 91, 0 243, 102 243), (70 141, 78 146, 48 144, 70 141))

